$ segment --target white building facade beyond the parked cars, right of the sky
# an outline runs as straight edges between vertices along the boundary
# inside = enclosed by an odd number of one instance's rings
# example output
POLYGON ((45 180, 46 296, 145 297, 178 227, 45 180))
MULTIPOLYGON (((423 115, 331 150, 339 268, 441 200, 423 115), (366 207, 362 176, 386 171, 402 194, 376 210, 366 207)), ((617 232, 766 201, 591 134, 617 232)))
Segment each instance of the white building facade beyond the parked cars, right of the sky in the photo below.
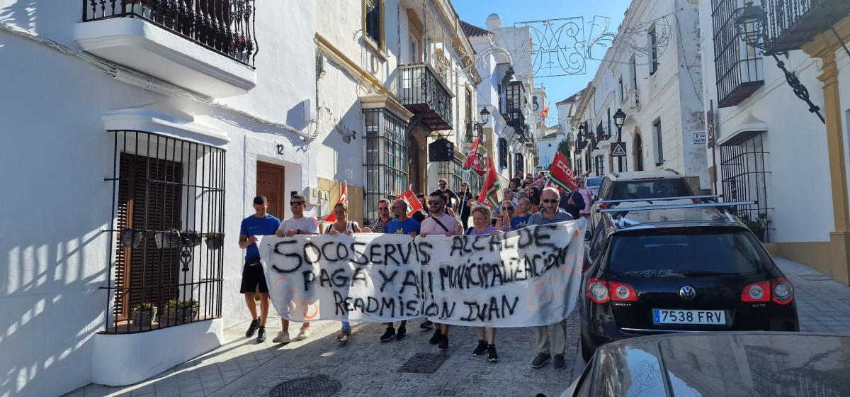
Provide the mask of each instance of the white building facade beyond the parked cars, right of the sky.
POLYGON ((573 127, 582 170, 594 175, 672 169, 708 190, 698 10, 686 0, 635 0, 578 101, 573 127), (622 166, 611 156, 613 120, 626 113, 622 166))

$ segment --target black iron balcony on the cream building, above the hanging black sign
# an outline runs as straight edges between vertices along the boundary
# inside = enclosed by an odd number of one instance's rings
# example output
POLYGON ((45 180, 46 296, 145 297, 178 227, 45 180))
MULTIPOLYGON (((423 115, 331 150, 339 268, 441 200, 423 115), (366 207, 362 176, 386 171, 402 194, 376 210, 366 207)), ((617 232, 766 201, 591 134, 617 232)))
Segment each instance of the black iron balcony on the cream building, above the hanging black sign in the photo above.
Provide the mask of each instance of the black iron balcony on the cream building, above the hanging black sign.
POLYGON ((450 130, 451 90, 428 64, 399 65, 399 97, 431 131, 450 130))

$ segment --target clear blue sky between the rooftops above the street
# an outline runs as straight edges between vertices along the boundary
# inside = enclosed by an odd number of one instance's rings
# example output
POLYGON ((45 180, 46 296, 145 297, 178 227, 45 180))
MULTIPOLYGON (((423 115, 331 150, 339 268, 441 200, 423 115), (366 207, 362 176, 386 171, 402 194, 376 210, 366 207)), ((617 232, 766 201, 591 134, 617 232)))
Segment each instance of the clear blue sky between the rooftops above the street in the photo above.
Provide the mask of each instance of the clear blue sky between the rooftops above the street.
MULTIPOLYGON (((617 26, 623 21, 631 0, 536 0, 524 2, 517 0, 452 0, 461 20, 474 26, 484 27, 487 15, 496 13, 501 16, 502 26, 514 26, 515 23, 532 20, 553 20, 558 18, 584 17, 586 30, 590 30, 590 22, 595 15, 610 18, 608 30, 616 32, 617 26)), ((595 58, 602 58, 604 48, 594 51, 595 58)), ((587 86, 593 74, 598 69, 598 60, 587 60, 585 74, 562 77, 535 77, 535 83, 546 85, 550 113, 547 125, 557 121, 555 103, 575 94, 587 86)))

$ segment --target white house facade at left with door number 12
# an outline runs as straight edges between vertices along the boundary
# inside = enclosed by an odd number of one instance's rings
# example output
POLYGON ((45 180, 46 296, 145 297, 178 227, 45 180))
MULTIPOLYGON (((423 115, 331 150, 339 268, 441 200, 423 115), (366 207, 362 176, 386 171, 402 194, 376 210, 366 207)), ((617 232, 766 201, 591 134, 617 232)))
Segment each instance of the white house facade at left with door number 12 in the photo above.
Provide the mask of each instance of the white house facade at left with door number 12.
POLYGON ((0 180, 18 186, 0 193, 0 395, 135 383, 218 347, 248 318, 253 196, 284 218, 317 185, 312 3, 167 3, 0 1, 0 180))

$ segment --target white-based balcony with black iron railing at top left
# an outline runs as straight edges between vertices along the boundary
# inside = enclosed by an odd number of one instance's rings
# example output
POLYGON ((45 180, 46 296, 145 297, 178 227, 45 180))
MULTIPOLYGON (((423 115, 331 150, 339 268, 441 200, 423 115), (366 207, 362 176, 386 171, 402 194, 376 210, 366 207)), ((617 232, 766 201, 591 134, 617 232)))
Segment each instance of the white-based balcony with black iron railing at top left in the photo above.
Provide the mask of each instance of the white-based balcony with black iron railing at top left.
POLYGON ((253 0, 83 0, 91 54, 210 98, 256 86, 253 0))

